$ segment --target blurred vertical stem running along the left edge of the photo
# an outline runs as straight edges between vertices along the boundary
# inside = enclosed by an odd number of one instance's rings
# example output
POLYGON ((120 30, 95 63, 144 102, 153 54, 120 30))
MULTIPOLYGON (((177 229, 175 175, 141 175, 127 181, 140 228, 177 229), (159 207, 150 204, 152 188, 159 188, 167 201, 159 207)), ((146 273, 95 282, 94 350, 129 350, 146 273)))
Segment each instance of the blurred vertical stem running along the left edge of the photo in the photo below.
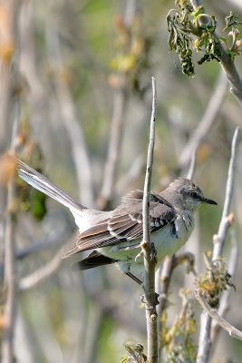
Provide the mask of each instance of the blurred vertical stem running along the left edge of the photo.
MULTIPOLYGON (((11 149, 12 152, 15 152, 15 132, 17 128, 14 126, 13 129, 13 120, 15 124, 19 120, 18 108, 15 108, 13 101, 13 86, 15 85, 13 55, 16 48, 15 26, 17 24, 17 2, 14 0, 2 0, 0 1, 0 10, 0 152, 4 152, 9 148, 11 137, 11 149), (12 110, 14 110, 14 113, 12 113, 12 110)), ((10 152, 9 158, 9 165, 6 165, 6 167, 11 167, 11 164, 14 167, 15 162, 11 161, 10 152)), ((0 213, 3 213, 3 218, 0 215, 0 221, 1 228, 3 227, 2 242, 5 249, 4 289, 6 293, 1 361, 2 363, 12 363, 14 361, 13 338, 15 328, 15 243, 13 236, 12 205, 15 185, 13 175, 7 175, 7 170, 2 170, 2 172, 6 173, 7 189, 5 185, 0 186, 0 213)))

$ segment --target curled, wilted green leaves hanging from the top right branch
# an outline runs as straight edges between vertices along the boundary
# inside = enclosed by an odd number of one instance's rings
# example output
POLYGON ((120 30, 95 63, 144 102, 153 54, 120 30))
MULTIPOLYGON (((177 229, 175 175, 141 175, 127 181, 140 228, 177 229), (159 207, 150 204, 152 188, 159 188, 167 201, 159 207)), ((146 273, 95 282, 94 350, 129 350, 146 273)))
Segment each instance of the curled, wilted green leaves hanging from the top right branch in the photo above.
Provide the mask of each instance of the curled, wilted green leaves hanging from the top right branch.
MULTIPOLYGON (((187 0, 177 0, 176 5, 177 9, 170 10, 167 16, 169 49, 170 51, 175 50, 179 55, 182 73, 194 76, 195 66, 192 63, 191 47, 195 48, 197 52, 204 52, 198 64, 214 59, 219 61, 221 56, 220 40, 227 44, 227 39, 223 37, 218 38, 215 34, 218 24, 216 17, 205 14, 205 10, 201 5, 195 11, 193 11, 187 0)), ((236 15, 230 13, 226 17, 226 27, 224 30, 231 27, 232 31, 229 35, 232 35, 234 38, 232 47, 229 49, 227 46, 227 53, 231 57, 240 54, 238 46, 241 45, 241 40, 237 41, 239 24, 241 23, 236 15)))

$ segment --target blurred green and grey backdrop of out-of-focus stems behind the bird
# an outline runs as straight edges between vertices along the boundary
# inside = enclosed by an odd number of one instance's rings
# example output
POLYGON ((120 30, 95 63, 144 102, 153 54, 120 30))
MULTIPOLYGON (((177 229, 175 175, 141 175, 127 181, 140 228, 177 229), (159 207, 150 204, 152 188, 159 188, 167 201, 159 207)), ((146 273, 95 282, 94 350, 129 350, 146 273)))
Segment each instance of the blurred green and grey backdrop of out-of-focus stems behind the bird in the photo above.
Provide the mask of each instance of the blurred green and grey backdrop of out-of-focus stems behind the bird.
MULTIPOLYGON (((230 10, 242 20, 239 0, 204 5, 216 15, 221 36, 230 10)), ((11 207, 12 236, 10 262, 4 243, 0 247, 0 328, 5 327, 4 276, 10 266, 15 271, 16 362, 119 362, 127 340, 146 344, 140 287, 114 266, 74 273, 72 263, 61 260, 77 236, 71 213, 19 178, 7 191, 3 175, 9 172, 6 165, 12 171, 14 152, 84 205, 115 208, 123 194, 143 188, 151 76, 158 93, 152 189, 161 191, 174 177, 186 176, 197 149, 194 182, 218 201, 217 208, 200 209, 196 231, 184 248, 195 254, 197 272, 205 269, 202 253, 212 250, 218 231, 241 106, 218 62, 198 65, 200 54, 194 54, 195 77, 181 73, 179 58, 168 46, 166 15, 174 6, 170 0, 0 3, 0 216, 4 219, 6 205, 11 207)), ((242 74, 239 57, 236 64, 242 74)), ((239 150, 232 205, 239 247, 241 177, 239 150)), ((3 240, 3 223, 0 233, 3 240)), ((230 250, 228 233, 226 261, 230 250)), ((238 250, 237 290, 230 291, 226 318, 242 329, 238 250)), ((182 306, 179 289, 194 290, 193 281, 185 266, 174 271, 168 326, 182 306)), ((195 309, 196 343, 201 308, 195 309)), ((241 360, 242 344, 221 331, 210 361, 241 360)))

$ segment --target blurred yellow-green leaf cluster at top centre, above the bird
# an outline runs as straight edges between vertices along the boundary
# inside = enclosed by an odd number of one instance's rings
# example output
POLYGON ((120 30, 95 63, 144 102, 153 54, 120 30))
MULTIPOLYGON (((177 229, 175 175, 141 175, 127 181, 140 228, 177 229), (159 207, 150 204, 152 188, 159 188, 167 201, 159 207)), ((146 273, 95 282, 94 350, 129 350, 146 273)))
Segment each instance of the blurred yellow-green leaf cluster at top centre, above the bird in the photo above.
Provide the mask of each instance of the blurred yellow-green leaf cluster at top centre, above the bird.
MULTIPOLYGON (((121 16, 118 16, 115 24, 118 32, 117 54, 111 59, 111 70, 125 76, 131 90, 142 96, 150 87, 150 83, 144 86, 140 85, 140 75, 144 70, 150 68, 153 30, 151 28, 144 29, 140 15, 134 16, 130 25, 121 16)), ((111 74, 110 77, 110 83, 114 87, 120 85, 117 74, 111 74)))

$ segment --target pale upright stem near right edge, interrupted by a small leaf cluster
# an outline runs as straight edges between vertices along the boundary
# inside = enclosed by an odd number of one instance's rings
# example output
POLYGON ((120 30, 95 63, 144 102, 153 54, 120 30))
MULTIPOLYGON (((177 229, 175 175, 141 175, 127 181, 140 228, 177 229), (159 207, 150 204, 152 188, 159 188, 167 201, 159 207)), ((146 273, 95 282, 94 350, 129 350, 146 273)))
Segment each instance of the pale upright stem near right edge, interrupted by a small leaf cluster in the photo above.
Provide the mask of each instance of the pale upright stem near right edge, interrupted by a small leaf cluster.
MULTIPOLYGON (((238 133, 239 129, 237 128, 234 132, 233 141, 231 145, 231 156, 230 162, 228 166, 227 172, 227 187, 226 187, 226 195, 224 202, 224 209, 221 217, 221 221, 218 227, 218 234, 214 237, 214 247, 213 247, 213 261, 218 260, 219 257, 222 256, 224 242, 227 237, 227 229, 230 226, 230 222, 227 219, 232 194, 234 189, 234 178, 235 178, 235 164, 237 157, 237 145, 238 145, 238 133)), ((198 356, 197 363, 207 363, 209 350, 210 350, 210 330, 211 330, 211 318, 206 311, 202 312, 200 318, 200 334, 199 334, 199 342, 198 342, 198 356)))

